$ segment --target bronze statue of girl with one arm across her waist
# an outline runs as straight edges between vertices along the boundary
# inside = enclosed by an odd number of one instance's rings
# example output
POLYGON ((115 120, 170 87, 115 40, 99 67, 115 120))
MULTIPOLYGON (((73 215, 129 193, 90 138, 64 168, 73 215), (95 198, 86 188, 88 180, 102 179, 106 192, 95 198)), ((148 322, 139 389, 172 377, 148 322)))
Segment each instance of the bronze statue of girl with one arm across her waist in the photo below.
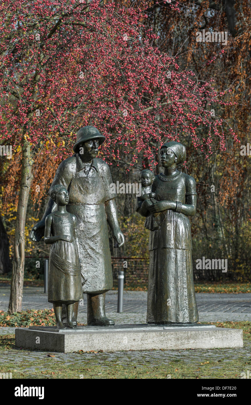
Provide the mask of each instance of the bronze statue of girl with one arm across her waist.
POLYGON ((77 220, 75 215, 66 211, 69 202, 66 188, 55 185, 50 190, 50 197, 57 203, 57 208, 45 219, 45 243, 51 244, 48 301, 53 303, 57 328, 64 328, 62 304, 67 307, 67 326, 75 328, 73 305, 83 298, 77 220))

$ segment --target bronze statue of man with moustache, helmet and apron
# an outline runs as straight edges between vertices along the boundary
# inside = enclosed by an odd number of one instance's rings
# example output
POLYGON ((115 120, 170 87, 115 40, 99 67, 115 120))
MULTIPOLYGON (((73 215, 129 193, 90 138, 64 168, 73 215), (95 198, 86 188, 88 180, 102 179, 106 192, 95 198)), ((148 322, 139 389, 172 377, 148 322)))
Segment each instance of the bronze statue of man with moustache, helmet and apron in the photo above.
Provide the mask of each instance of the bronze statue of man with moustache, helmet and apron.
MULTIPOLYGON (((60 184, 68 190, 67 211, 77 218, 82 275, 86 279, 83 292, 87 294, 87 324, 94 326, 114 325, 105 316, 105 292, 113 285, 107 222, 116 247, 124 244, 114 200, 116 194, 110 189, 113 183, 110 169, 97 158, 99 145, 104 141, 105 136, 93 126, 79 129, 73 147, 75 155, 60 163, 51 184, 51 187, 60 184)), ((42 220, 30 232, 32 241, 38 242, 43 237, 45 217, 54 209, 54 201, 49 198, 42 220)), ((77 306, 78 303, 74 308, 75 318, 77 306)))

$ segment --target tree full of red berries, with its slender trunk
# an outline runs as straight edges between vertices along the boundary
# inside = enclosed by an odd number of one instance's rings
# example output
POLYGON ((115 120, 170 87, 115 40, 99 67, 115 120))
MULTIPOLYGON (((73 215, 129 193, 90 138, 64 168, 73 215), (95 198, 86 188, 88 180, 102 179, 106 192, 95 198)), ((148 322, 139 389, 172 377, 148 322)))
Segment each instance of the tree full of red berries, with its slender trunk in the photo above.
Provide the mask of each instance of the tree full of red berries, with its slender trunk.
POLYGON ((117 164, 121 147, 124 154, 133 152, 131 166, 139 154, 155 164, 159 143, 184 133, 206 154, 212 143, 225 147, 223 121, 210 111, 224 92, 218 94, 211 81, 181 69, 176 58, 154 46, 157 34, 142 23, 147 3, 140 2, 141 8, 98 0, 0 5, 0 137, 22 153, 11 312, 21 311, 24 226, 32 164, 41 145, 54 144, 60 157, 70 151, 77 129, 91 124, 107 138, 101 156, 117 164))

